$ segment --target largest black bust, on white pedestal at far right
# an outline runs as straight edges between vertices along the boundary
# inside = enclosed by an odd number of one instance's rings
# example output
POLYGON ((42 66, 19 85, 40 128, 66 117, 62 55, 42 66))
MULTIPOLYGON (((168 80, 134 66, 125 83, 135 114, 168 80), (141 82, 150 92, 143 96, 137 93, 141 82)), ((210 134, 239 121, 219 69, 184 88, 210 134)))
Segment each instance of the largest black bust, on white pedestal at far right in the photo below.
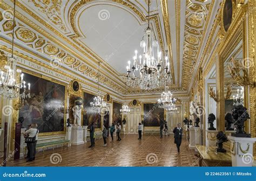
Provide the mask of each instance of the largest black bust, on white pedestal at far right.
POLYGON ((234 121, 235 128, 237 132, 234 134, 236 137, 251 137, 250 134, 246 134, 244 130, 244 124, 247 119, 250 119, 249 114, 247 113, 247 108, 239 105, 235 106, 232 109, 232 117, 234 121))

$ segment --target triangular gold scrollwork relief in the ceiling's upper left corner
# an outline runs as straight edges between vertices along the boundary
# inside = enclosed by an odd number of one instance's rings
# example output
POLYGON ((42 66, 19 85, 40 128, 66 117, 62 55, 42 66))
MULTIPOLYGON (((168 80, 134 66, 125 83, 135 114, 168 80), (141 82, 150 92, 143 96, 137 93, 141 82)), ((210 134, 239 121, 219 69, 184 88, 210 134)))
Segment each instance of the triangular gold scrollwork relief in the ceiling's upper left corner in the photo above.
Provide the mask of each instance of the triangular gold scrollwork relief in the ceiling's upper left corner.
MULTIPOLYGON (((64 12, 65 6, 65 4, 62 4, 62 0, 29 0, 29 2, 32 2, 40 12, 43 12, 48 17, 50 22, 57 25, 60 30, 66 32, 66 26, 63 23, 61 16, 64 12)), ((66 1, 64 1, 63 3, 65 2, 66 1)))

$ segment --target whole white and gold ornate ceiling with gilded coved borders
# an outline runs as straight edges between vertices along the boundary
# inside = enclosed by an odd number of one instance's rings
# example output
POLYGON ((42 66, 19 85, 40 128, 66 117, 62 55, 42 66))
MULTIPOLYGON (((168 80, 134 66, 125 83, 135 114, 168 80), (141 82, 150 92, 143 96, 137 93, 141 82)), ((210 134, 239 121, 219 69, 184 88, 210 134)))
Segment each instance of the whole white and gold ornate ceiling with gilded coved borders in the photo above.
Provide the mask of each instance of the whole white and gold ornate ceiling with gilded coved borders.
MULTIPOLYGON (((0 0, 1 37, 10 38, 12 22, 4 17, 13 1, 0 0)), ((185 93, 193 82, 195 66, 207 41, 219 1, 151 0, 150 24, 161 51, 169 51, 172 88, 185 93)), ((60 67, 96 81, 97 62, 102 62, 100 83, 112 91, 124 93, 125 66, 147 23, 147 1, 39 1, 19 0, 15 41, 49 61, 51 55, 60 67)), ((129 88, 129 94, 143 92, 129 88)))

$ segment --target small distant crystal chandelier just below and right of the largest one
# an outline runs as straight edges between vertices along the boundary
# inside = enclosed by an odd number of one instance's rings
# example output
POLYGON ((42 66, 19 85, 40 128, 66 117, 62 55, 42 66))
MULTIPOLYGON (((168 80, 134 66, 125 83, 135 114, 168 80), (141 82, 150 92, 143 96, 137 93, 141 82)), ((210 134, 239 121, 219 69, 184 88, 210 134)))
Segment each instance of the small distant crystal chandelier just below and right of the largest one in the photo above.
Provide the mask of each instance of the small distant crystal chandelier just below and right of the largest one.
POLYGON ((165 91, 161 94, 161 99, 158 99, 160 108, 170 109, 175 106, 177 102, 176 98, 173 98, 172 93, 169 91, 169 87, 165 86, 165 91))

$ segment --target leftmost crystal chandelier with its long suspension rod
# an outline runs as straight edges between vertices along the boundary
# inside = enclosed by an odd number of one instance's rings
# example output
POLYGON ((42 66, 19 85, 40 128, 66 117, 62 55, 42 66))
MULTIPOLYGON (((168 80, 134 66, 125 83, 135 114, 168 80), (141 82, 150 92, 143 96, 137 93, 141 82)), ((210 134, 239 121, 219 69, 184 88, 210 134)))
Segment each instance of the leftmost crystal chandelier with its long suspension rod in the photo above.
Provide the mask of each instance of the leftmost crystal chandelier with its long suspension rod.
POLYGON ((15 28, 15 7, 16 1, 14 1, 14 18, 12 21, 12 46, 11 57, 7 57, 7 64, 4 66, 5 72, 1 71, 0 80, 0 95, 6 99, 19 98, 18 104, 21 103, 21 99, 30 98, 30 83, 28 88, 26 82, 23 80, 24 74, 21 69, 17 69, 17 60, 14 58, 14 28, 15 28))

